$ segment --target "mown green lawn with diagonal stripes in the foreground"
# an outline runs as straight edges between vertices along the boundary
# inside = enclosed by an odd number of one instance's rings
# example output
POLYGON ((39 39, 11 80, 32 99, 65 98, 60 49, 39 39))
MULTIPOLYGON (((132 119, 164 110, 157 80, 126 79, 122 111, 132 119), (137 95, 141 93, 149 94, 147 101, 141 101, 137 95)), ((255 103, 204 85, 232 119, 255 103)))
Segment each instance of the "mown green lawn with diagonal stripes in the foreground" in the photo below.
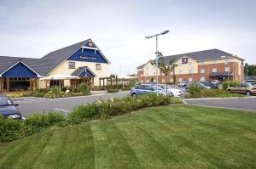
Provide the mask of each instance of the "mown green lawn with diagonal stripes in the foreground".
POLYGON ((171 105, 0 144, 0 168, 256 168, 256 114, 171 105))

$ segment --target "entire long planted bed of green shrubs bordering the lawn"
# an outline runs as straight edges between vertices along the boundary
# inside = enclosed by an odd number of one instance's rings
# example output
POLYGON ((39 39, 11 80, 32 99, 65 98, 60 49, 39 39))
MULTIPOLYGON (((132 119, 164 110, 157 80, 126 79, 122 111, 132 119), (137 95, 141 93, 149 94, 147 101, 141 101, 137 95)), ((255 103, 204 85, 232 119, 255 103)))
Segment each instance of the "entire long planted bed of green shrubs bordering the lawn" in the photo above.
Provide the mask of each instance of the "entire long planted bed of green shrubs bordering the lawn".
POLYGON ((108 99, 107 101, 98 100, 91 104, 79 105, 67 117, 56 112, 49 112, 44 115, 33 114, 24 121, 15 121, 0 116, 0 142, 23 138, 53 126, 65 127, 83 121, 107 119, 114 115, 124 115, 133 110, 146 107, 181 103, 182 101, 180 99, 153 93, 139 96, 135 99, 125 97, 123 99, 108 99))

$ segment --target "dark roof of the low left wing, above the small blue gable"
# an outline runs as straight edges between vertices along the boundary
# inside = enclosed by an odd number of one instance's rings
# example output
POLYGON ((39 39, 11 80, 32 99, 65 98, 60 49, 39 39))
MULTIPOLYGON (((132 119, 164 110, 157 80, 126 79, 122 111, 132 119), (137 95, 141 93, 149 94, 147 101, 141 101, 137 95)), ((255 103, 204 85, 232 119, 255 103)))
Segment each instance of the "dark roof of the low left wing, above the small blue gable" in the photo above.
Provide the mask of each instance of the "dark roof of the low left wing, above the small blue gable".
POLYGON ((17 64, 18 62, 23 62, 38 74, 38 71, 35 70, 33 67, 34 63, 36 63, 37 61, 38 59, 32 59, 32 58, 0 56, 0 75, 3 74, 5 70, 8 70, 10 67, 17 64))

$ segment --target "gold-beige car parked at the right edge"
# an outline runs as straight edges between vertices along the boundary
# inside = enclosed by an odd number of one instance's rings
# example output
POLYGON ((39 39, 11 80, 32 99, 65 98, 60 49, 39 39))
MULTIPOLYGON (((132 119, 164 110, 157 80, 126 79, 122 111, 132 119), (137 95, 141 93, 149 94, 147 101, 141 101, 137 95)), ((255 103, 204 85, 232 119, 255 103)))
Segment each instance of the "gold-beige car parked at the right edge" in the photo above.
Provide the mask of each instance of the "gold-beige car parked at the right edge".
POLYGON ((232 93, 241 93, 250 96, 252 94, 256 94, 256 82, 242 82, 236 87, 228 87, 227 90, 231 91, 232 93))

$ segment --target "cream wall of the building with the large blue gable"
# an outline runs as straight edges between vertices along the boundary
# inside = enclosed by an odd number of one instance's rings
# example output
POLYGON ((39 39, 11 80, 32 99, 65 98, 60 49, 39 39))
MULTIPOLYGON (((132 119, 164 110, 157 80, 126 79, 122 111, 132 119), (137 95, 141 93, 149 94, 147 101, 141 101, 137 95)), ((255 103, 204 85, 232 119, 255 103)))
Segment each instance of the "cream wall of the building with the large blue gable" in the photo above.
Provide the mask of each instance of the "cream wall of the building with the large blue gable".
MULTIPOLYGON (((108 70, 108 64, 102 64, 102 63, 94 63, 94 62, 82 62, 82 61, 72 61, 75 62, 76 68, 75 69, 68 69, 68 62, 71 60, 65 60, 61 65, 57 66, 55 70, 52 70, 49 73, 49 76, 53 75, 58 75, 58 74, 64 74, 64 75, 71 75, 74 70, 78 69, 79 67, 82 66, 88 66, 90 70, 92 70, 95 74, 96 77, 94 78, 94 86, 99 86, 99 78, 100 77, 107 77, 109 76, 109 70, 108 70), (96 64, 101 64, 102 69, 101 70, 96 70, 96 64)), ((46 83, 45 81, 40 82, 40 87, 41 88, 46 88, 46 83)), ((70 81, 65 80, 64 81, 65 86, 70 86, 70 81)))

